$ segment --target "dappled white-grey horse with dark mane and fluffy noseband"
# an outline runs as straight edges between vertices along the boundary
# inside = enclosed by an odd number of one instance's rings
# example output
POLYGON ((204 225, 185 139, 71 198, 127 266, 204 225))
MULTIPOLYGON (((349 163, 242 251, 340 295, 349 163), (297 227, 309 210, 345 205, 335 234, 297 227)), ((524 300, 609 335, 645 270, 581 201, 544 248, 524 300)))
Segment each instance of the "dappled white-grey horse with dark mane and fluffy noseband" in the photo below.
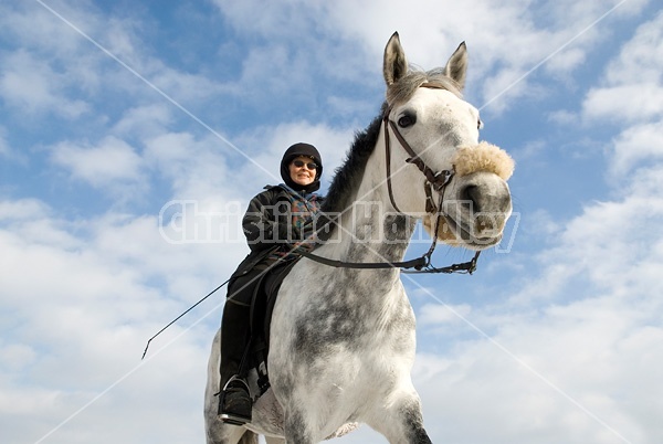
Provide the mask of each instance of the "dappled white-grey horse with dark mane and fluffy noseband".
MULTIPOLYGON (((461 44, 444 68, 412 71, 391 36, 383 115, 357 135, 336 172, 323 208, 337 214, 335 235, 317 255, 402 261, 420 219, 448 244, 480 251, 501 241, 514 165, 478 142, 478 112, 461 98, 466 61, 461 44)), ((217 417, 220 340, 218 332, 208 368, 209 444, 257 443, 256 434, 269 444, 317 443, 359 423, 390 443, 430 443, 410 377, 414 314, 399 268, 334 268, 306 257, 293 267, 272 317, 272 385, 243 426, 217 417)), ((255 374, 250 385, 257 390, 255 374)))

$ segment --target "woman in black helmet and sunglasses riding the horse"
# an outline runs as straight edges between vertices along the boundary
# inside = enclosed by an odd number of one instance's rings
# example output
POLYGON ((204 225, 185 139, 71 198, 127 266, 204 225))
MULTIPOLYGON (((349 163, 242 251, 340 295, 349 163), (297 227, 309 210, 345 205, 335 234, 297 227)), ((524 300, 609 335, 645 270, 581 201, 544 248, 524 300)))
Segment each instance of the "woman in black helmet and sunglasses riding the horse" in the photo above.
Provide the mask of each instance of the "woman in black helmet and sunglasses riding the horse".
POLYGON ((251 253, 231 276, 221 321, 219 414, 224 422, 251 421, 249 387, 239 374, 251 339, 251 300, 254 294, 265 297, 270 278, 292 263, 293 244, 313 246, 313 216, 323 201, 314 191, 320 188, 322 173, 322 158, 313 145, 291 146, 281 160, 284 183, 265 187, 251 200, 242 220, 251 253))

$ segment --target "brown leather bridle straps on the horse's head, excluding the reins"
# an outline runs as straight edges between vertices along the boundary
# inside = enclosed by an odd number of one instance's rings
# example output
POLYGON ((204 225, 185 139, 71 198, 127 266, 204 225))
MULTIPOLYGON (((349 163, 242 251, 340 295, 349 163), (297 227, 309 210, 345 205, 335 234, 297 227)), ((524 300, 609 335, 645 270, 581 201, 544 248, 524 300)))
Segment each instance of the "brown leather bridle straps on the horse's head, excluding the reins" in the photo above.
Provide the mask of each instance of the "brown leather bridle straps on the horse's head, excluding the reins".
MULTIPOLYGON (((434 89, 445 89, 444 86, 438 83, 427 82, 422 84, 420 87, 422 88, 434 88, 434 89)), ((444 199, 444 189, 451 182, 453 175, 455 171, 450 170, 441 170, 434 171, 432 170, 425 162, 414 152, 410 144, 404 139, 404 137, 398 130, 398 126, 389 118, 389 113, 391 108, 385 112, 385 117, 382 118, 382 126, 385 127, 385 151, 386 151, 386 163, 387 163, 387 190, 389 191, 389 200, 391 201, 391 205, 399 213, 403 213, 398 205, 396 204, 396 200, 393 199, 393 190, 391 186, 391 146, 389 142, 389 128, 398 139, 400 146, 406 150, 406 152, 410 156, 406 159, 406 162, 413 163, 419 168, 419 171, 425 176, 425 183, 423 184, 423 189, 425 191, 425 212, 434 214, 438 210, 442 208, 442 199, 444 199), (435 202, 433 200, 432 190, 434 189, 440 193, 440 204, 435 207, 435 202)), ((438 215, 439 216, 439 215, 438 215)))

